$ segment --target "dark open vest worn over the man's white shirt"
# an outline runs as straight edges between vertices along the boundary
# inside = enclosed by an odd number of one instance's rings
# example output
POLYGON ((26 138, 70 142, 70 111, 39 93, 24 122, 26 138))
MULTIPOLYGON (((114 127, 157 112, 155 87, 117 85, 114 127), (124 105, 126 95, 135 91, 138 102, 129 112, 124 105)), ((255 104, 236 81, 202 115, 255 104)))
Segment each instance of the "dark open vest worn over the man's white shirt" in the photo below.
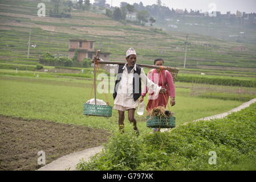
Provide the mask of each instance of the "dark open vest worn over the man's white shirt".
MULTIPOLYGON (((113 93, 114 100, 116 98, 117 89, 119 87, 119 85, 117 85, 117 84, 121 81, 122 74, 123 74, 123 71, 124 71, 123 67, 124 67, 124 65, 119 65, 119 68, 118 68, 118 75, 117 75, 117 78, 116 78, 115 90, 114 90, 114 93, 113 93)), ((132 85, 133 85, 133 89, 132 89, 133 90, 133 100, 134 101, 137 101, 138 98, 140 98, 140 96, 141 96, 141 79, 139 77, 140 76, 140 72, 141 72, 141 67, 136 65, 136 71, 134 70, 133 82, 132 82, 132 85), (138 86, 139 86, 139 90, 138 90, 138 86), (138 93, 138 91, 139 91, 139 93, 138 93)))

